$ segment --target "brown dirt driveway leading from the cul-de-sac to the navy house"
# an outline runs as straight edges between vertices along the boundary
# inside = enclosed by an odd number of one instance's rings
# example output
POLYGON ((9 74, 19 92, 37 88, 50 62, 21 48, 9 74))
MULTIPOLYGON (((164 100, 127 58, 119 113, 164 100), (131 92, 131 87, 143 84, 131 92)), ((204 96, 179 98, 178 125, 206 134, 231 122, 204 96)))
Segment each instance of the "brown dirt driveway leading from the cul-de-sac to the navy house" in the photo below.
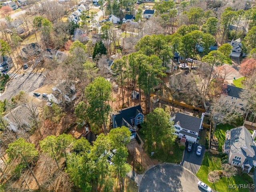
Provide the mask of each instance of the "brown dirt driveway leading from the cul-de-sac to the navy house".
MULTIPOLYGON (((128 152, 134 159, 142 165, 142 167, 147 170, 151 166, 154 165, 154 162, 150 159, 148 154, 146 154, 145 150, 142 148, 142 145, 139 145, 136 140, 131 141, 128 145, 128 152)), ((158 164, 158 162, 156 162, 158 164)))

